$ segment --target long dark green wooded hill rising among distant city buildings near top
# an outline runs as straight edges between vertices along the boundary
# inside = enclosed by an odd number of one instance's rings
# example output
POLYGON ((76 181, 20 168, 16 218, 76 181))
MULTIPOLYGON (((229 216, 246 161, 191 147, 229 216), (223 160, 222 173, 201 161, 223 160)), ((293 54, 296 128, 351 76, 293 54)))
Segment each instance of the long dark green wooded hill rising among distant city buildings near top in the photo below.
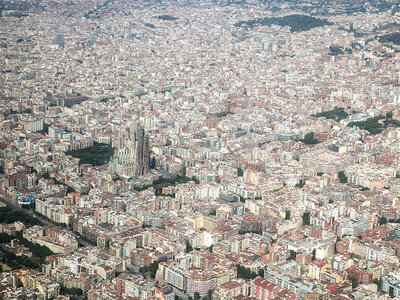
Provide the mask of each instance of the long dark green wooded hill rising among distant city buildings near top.
POLYGON ((241 21, 235 24, 236 27, 250 27, 253 28, 254 26, 271 26, 271 25, 279 25, 279 26, 289 26, 291 32, 300 32, 300 31, 308 31, 315 27, 321 27, 325 25, 332 25, 333 23, 314 18, 310 16, 304 15, 289 15, 285 17, 279 18, 259 18, 254 20, 248 21, 241 21))

